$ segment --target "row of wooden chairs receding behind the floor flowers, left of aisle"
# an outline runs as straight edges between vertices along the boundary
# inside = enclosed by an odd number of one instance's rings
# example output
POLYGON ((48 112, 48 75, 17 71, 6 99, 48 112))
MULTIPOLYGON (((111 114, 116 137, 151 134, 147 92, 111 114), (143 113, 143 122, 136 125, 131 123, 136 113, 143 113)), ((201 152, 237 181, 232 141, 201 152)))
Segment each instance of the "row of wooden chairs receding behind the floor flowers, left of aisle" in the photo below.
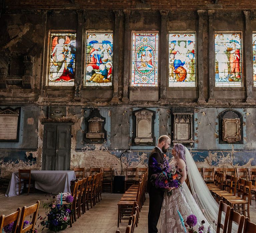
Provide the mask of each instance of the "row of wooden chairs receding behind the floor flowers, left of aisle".
POLYGON ((103 176, 103 172, 93 174, 91 176, 86 176, 80 180, 77 180, 73 184, 72 188, 72 196, 74 198, 71 209, 73 210, 71 213, 71 222, 70 226, 72 227, 72 223, 74 223, 77 218, 81 217, 82 214, 85 213, 86 208, 89 210, 90 207, 96 205, 96 203, 102 200, 101 197, 101 179, 103 176))

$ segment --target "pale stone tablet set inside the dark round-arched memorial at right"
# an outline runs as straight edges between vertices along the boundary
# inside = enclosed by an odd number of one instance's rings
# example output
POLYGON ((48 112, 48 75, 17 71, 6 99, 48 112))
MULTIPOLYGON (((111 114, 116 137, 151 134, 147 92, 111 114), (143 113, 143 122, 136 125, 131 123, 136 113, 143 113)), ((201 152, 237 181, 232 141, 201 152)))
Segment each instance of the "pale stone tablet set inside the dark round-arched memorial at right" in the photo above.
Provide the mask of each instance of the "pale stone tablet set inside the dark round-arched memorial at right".
POLYGON ((234 143, 241 139, 240 119, 223 119, 223 141, 234 143))

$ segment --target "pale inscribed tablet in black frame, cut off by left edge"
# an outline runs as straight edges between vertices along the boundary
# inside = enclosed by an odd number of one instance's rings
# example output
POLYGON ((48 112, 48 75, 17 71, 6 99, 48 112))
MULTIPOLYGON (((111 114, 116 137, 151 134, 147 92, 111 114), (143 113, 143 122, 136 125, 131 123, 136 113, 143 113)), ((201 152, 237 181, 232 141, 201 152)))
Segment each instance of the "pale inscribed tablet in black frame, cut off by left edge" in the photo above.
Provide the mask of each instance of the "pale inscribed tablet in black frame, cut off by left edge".
POLYGON ((19 110, 0 111, 0 141, 18 141, 19 110))

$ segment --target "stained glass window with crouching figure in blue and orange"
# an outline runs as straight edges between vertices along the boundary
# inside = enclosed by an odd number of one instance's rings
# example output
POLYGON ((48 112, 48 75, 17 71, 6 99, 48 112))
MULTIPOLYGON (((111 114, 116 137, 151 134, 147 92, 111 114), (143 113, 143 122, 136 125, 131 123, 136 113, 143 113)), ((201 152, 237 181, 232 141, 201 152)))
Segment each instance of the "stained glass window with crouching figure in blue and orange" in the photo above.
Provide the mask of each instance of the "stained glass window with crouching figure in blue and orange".
POLYGON ((195 61, 195 33, 170 33, 169 87, 195 87, 195 61))

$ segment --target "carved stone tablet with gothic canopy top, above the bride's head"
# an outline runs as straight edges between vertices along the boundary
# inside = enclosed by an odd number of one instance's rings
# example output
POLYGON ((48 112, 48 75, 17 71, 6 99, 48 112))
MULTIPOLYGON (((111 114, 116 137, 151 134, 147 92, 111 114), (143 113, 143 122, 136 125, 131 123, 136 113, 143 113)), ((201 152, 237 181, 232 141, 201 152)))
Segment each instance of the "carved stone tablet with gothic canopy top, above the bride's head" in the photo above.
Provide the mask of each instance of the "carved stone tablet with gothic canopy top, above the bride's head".
POLYGON ((174 132, 173 143, 193 143, 193 114, 192 113, 175 113, 174 114, 174 132))

